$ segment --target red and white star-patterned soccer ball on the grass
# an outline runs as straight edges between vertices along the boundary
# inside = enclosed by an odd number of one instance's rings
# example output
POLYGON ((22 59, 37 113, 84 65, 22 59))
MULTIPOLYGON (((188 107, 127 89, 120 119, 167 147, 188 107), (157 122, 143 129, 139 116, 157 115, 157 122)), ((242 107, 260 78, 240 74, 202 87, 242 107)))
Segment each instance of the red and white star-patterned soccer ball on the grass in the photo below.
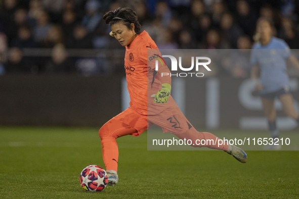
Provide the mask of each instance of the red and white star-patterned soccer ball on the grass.
POLYGON ((90 165, 84 168, 80 174, 80 184, 86 191, 103 190, 108 183, 106 171, 97 165, 90 165))

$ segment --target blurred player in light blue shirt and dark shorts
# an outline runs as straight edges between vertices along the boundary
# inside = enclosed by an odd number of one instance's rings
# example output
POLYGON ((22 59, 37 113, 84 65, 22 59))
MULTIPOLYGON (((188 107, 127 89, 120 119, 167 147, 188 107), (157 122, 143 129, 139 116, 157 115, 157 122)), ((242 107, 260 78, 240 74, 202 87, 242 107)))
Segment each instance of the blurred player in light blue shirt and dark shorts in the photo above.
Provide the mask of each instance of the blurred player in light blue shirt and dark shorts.
MULTIPOLYGON (((273 138, 278 138, 276 126, 275 98, 279 98, 286 115, 299 123, 299 115, 293 106, 293 98, 289 89, 286 61, 299 70, 299 62, 291 55, 289 46, 282 39, 272 36, 271 21, 260 18, 257 22, 255 43, 252 47, 250 63, 251 79, 255 88, 260 91, 269 130, 273 138)), ((280 146, 272 149, 279 150, 280 146)))

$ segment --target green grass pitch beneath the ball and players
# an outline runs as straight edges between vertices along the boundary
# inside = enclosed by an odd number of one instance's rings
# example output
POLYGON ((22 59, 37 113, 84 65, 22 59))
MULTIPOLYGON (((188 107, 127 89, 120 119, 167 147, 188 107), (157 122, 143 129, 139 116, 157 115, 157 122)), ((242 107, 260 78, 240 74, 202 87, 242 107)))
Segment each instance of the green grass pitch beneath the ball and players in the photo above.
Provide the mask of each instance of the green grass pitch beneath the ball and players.
POLYGON ((0 127, 0 198, 299 198, 298 151, 147 151, 124 136, 119 183, 86 192, 81 170, 104 166, 96 128, 0 127))

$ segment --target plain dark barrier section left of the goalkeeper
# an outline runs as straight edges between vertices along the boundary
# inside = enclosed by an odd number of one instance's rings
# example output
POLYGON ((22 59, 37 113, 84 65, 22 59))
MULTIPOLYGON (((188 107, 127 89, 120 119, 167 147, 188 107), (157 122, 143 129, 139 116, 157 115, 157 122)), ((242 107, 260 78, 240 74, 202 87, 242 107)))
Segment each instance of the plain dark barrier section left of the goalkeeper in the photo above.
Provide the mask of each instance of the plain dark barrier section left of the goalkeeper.
POLYGON ((121 76, 0 76, 0 125, 101 126, 120 112, 121 76))

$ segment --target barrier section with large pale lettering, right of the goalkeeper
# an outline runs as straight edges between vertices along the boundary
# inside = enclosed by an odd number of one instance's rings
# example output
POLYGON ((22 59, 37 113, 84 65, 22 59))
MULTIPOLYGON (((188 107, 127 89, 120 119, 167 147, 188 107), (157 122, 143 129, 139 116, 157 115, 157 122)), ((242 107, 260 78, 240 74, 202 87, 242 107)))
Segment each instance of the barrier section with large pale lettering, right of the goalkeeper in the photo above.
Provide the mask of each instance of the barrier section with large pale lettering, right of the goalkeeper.
MULTIPOLYGON (((175 78, 173 78, 175 82, 175 78)), ((259 92, 250 79, 231 78, 189 78, 185 80, 185 115, 197 128, 208 129, 267 129, 259 92)), ((176 87, 173 87, 176 92, 176 87)), ((299 81, 290 78, 290 90, 296 111, 299 111, 299 81)), ((177 96, 178 98, 180 95, 177 96)), ((175 98, 177 100, 177 98, 175 98)), ((290 130, 297 123, 286 116, 278 100, 277 125, 280 129, 290 130)))

